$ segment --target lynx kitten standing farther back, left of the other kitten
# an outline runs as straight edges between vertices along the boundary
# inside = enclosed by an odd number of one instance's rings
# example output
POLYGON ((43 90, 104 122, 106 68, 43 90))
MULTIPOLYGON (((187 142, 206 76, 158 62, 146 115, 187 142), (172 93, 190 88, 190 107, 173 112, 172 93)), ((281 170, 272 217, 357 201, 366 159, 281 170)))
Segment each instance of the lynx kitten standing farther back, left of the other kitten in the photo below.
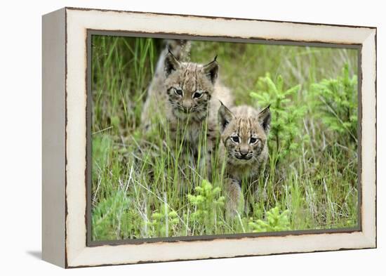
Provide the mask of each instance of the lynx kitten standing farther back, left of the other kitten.
MULTIPOLYGON (((166 53, 161 53, 142 112, 142 125, 148 131, 158 124, 159 121, 152 119, 154 113, 158 113, 159 120, 164 119, 168 123, 171 139, 177 135, 182 137, 183 145, 194 156, 197 156, 199 136, 205 126, 206 154, 211 154, 218 131, 219 100, 232 105, 231 93, 218 81, 216 58, 201 65, 179 60, 177 57, 182 50, 172 51, 173 48, 169 47, 166 53)), ((180 59, 183 58, 180 56, 180 59)))

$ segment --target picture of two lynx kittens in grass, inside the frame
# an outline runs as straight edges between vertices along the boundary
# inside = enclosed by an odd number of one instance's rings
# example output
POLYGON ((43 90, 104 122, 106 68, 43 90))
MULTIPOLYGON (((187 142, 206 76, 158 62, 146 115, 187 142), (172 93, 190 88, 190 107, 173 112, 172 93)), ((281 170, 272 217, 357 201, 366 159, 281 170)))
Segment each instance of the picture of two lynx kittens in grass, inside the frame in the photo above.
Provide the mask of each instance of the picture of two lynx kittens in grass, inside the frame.
POLYGON ((91 36, 91 240, 357 228, 358 50, 91 36))

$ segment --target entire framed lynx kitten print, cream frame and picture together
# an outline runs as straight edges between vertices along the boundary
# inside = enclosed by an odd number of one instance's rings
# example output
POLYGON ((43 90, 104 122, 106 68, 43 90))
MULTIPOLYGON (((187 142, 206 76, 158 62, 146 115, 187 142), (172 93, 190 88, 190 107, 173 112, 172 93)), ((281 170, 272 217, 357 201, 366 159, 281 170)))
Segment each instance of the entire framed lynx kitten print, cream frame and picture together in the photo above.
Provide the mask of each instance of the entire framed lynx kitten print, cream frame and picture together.
POLYGON ((376 247, 375 27, 43 16, 43 258, 376 247))

